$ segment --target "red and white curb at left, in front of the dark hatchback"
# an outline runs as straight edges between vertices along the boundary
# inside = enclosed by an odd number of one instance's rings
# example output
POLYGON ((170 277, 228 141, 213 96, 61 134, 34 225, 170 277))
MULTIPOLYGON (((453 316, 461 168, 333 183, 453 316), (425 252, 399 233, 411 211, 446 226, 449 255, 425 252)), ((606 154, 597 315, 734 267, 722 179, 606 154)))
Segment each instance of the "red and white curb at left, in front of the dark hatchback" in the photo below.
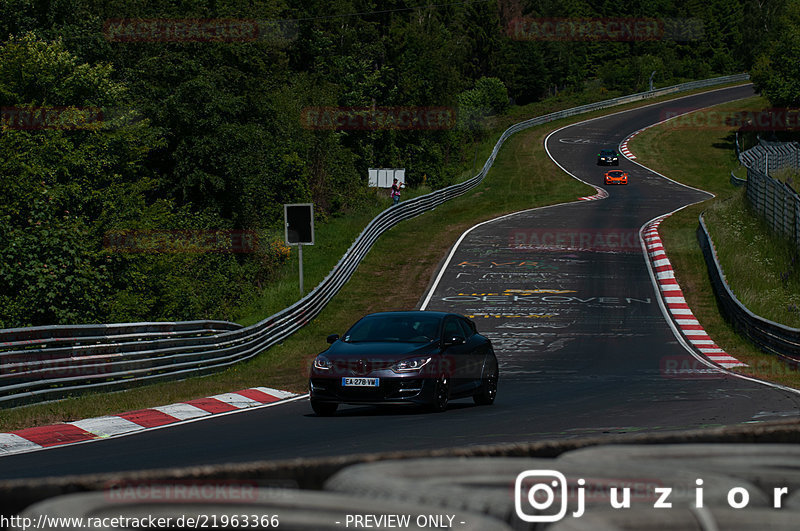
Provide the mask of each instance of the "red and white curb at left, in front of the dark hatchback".
POLYGON ((298 395, 288 391, 253 387, 235 393, 223 393, 169 406, 129 411, 120 415, 0 433, 0 457, 53 446, 116 437, 200 417, 263 406, 295 396, 298 395))

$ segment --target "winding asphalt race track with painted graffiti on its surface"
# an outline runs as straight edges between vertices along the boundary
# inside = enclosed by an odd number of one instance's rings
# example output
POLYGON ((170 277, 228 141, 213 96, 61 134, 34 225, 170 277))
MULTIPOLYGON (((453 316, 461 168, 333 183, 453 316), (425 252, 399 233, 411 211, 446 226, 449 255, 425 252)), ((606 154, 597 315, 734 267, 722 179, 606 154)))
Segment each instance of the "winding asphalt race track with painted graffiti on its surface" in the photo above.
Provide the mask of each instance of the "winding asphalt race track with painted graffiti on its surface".
MULTIPOLYGON (((597 152, 662 120, 752 94, 713 91, 576 124, 551 155, 602 187, 597 152)), ((514 214, 470 231, 427 309, 472 316, 501 363, 494 406, 447 412, 344 407, 318 418, 307 399, 140 434, 0 459, 0 479, 264 459, 429 449, 587 435, 673 431, 797 416, 800 395, 723 372, 681 378, 693 358, 656 299, 639 229, 708 197, 626 160, 609 197, 514 214)), ((331 330, 331 332, 342 332, 331 330)), ((320 350, 324 338, 320 338, 320 350)))

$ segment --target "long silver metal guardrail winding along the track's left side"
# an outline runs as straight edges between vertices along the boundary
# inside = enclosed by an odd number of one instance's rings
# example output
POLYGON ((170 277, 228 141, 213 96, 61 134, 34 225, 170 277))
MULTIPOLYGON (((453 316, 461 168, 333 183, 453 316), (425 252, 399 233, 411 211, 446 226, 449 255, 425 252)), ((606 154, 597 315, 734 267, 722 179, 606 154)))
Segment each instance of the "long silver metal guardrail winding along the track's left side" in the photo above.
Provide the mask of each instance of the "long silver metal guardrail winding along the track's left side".
POLYGON ((0 407, 53 400, 84 391, 125 389, 199 376, 251 358, 316 317, 347 283, 381 234, 480 184, 503 143, 514 133, 616 105, 748 78, 747 74, 738 74, 693 81, 582 105, 515 124, 503 132, 476 176, 378 214, 314 290, 252 326, 242 328, 234 323, 194 321, 1 330, 0 407))

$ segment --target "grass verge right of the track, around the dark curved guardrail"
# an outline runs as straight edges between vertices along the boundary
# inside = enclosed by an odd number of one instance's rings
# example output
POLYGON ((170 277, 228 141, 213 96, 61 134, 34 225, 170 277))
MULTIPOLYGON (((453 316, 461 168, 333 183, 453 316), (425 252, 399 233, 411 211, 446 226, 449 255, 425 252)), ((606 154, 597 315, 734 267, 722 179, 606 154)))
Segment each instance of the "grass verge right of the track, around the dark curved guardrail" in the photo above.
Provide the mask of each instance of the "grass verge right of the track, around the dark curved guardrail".
MULTIPOLYGON (((767 107, 769 104, 765 99, 756 97, 715 109, 757 111, 767 107)), ((687 122, 702 123, 702 120, 684 121, 687 122)), ((733 138, 732 129, 688 129, 667 122, 637 135, 630 147, 637 162, 678 182, 716 195, 712 200, 675 213, 659 229, 686 301, 703 328, 726 352, 749 365, 736 369, 738 372, 800 387, 800 373, 774 356, 763 353, 737 334, 722 317, 697 242, 698 217, 706 211, 709 231, 726 277, 731 285, 736 286, 737 297, 740 294, 752 295, 748 306, 753 304, 751 310, 765 317, 780 317, 776 319, 778 321, 790 317, 791 312, 784 309, 790 300, 797 299, 800 273, 794 275, 792 284, 782 285, 780 276, 789 268, 791 253, 781 239, 771 235, 749 211, 742 198, 742 189, 730 184, 730 173, 739 166, 733 138), (778 293, 784 298, 775 297, 778 293)))

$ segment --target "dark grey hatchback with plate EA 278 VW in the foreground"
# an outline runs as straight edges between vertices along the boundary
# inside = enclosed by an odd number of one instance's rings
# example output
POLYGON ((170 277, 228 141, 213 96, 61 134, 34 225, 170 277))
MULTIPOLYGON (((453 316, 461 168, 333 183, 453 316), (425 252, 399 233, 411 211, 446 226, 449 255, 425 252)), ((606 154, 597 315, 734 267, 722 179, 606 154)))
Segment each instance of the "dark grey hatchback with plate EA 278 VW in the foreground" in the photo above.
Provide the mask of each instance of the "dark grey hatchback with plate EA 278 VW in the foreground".
POLYGON ((488 338, 463 315, 380 312, 362 317, 311 366, 309 392, 317 415, 339 404, 425 406, 444 411, 451 399, 489 405, 499 367, 488 338))

